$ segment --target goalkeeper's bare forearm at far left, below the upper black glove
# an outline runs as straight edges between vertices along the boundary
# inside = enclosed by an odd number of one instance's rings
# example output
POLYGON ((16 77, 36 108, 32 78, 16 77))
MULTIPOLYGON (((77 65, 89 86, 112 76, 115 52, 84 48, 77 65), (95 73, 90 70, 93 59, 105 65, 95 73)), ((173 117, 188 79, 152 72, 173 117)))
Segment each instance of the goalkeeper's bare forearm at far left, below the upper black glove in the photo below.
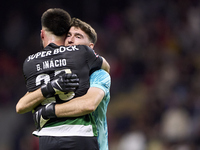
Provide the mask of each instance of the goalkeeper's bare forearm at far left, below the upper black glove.
POLYGON ((38 89, 34 92, 27 92, 17 103, 16 112, 19 114, 24 114, 32 111, 44 99, 45 97, 43 97, 41 89, 38 89))

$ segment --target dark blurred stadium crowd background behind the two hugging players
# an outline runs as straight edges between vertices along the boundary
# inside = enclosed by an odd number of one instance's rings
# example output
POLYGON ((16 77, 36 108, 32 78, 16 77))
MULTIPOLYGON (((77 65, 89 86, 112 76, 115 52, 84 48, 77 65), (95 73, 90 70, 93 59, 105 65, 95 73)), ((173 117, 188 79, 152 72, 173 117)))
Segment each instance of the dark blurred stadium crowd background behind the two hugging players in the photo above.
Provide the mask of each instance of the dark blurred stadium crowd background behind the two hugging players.
POLYGON ((6 0, 0 4, 0 150, 38 150, 22 65, 40 50, 40 17, 63 8, 90 23, 111 65, 110 150, 200 149, 199 0, 6 0))

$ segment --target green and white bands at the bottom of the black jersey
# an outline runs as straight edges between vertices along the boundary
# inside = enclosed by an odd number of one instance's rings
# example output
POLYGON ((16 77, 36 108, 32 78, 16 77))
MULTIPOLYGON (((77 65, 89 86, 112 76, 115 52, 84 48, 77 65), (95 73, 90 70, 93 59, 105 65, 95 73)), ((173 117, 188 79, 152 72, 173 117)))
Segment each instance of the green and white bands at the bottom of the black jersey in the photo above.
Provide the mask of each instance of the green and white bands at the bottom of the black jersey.
POLYGON ((92 114, 76 118, 66 118, 60 121, 47 123, 40 131, 35 131, 38 136, 97 136, 97 128, 92 114), (58 133, 62 131, 61 133, 58 133), (58 134, 56 134, 56 132, 58 134))

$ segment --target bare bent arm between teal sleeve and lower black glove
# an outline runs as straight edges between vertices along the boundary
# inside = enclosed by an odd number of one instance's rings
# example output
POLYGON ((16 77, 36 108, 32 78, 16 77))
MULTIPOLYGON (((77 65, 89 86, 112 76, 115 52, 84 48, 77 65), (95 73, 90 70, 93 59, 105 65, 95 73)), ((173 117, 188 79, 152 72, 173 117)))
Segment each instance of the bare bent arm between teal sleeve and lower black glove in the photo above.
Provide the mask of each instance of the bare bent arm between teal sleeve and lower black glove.
POLYGON ((55 105, 57 117, 78 117, 89 114, 96 110, 97 106, 104 97, 104 91, 91 87, 87 94, 72 99, 69 102, 55 105))

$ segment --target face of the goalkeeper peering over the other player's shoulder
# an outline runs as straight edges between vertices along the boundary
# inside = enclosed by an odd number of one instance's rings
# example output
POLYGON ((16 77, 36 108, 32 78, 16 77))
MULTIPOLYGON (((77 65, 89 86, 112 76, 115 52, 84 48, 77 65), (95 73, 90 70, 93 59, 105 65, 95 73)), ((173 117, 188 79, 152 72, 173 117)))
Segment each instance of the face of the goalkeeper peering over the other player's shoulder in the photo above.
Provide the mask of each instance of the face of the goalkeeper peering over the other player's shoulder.
POLYGON ((65 39, 65 46, 70 45, 87 45, 91 47, 93 43, 89 41, 87 34, 80 28, 71 27, 65 39))

